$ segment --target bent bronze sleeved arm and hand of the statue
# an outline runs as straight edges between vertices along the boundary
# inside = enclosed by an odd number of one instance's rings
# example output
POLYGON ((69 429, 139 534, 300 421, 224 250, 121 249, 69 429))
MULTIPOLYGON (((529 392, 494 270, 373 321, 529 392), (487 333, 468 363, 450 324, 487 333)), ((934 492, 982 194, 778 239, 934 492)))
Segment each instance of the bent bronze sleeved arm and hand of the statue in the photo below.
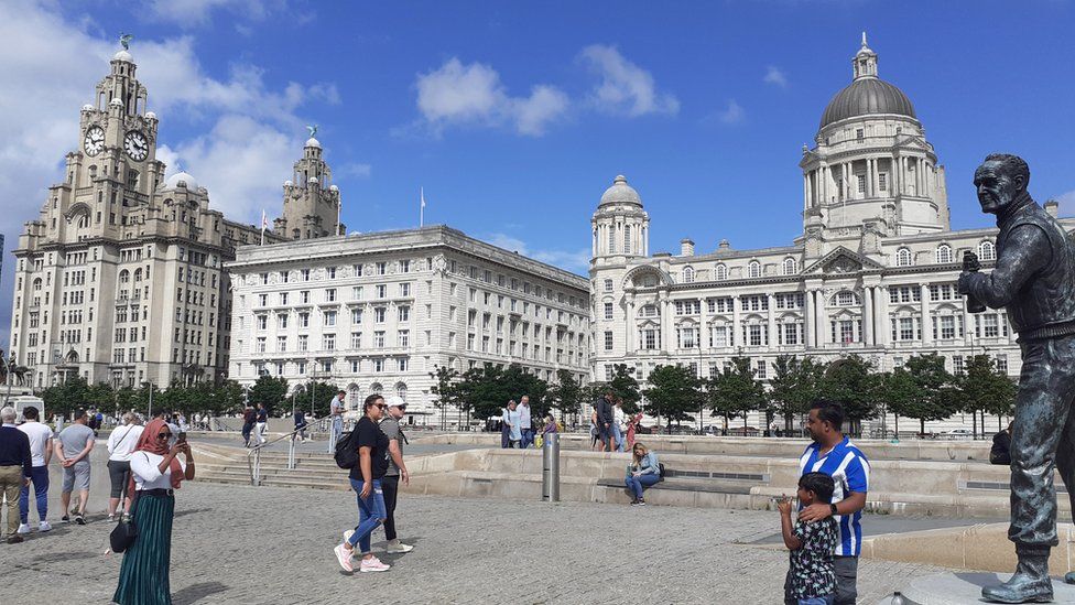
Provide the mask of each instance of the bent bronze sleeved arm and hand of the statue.
POLYGON ((992 309, 1007 306, 1027 280, 1052 260, 1049 238, 1040 227, 1021 225, 1008 236, 1005 251, 990 273, 964 272, 959 292, 970 294, 992 309))

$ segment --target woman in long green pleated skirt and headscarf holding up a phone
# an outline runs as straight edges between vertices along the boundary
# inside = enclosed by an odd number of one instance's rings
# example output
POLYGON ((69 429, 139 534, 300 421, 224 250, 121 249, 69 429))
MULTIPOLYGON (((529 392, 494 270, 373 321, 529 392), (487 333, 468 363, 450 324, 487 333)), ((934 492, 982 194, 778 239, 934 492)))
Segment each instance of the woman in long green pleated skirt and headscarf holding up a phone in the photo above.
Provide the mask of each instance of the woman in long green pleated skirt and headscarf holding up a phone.
POLYGON ((112 601, 120 605, 170 605, 169 568, 172 557, 172 517, 180 482, 194 478, 191 446, 177 441, 163 420, 150 422, 131 454, 134 494, 133 521, 138 538, 123 553, 119 586, 112 601), (178 458, 182 453, 186 462, 178 458))

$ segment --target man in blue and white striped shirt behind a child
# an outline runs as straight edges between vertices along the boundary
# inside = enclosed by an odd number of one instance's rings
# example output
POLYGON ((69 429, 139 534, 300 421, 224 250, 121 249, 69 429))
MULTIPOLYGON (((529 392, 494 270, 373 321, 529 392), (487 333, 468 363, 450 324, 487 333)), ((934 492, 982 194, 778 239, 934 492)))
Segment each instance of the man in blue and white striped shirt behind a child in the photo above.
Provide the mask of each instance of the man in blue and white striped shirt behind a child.
MULTIPOLYGON (((833 477, 835 490, 832 503, 813 504, 799 512, 801 520, 811 522, 834 517, 839 527, 839 542, 833 561, 836 566, 836 605, 854 605, 858 596, 856 579, 858 557, 862 551, 862 508, 870 484, 870 463, 850 440, 844 436, 844 408, 839 403, 819 400, 806 418, 811 443, 799 458, 800 475, 825 473, 833 477)), ((784 583, 784 603, 794 605, 791 597, 791 575, 784 583)))

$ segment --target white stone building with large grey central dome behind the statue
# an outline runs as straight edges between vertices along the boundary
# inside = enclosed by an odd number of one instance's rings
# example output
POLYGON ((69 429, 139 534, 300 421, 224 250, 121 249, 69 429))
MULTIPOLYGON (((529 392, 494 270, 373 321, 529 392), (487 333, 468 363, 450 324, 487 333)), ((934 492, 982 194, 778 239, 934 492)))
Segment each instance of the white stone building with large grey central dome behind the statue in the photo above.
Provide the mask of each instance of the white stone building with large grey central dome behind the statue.
POLYGON ((854 353, 889 370, 932 352, 949 371, 987 353, 1018 375, 1005 313, 968 314, 956 292, 964 251, 995 262, 997 229, 949 229, 944 168, 911 100, 878 77, 865 36, 851 67, 803 149, 803 234, 790 246, 697 253, 684 239, 676 256, 650 255, 650 216, 616 177, 591 220, 595 380, 615 364, 640 379, 660 364, 708 377, 736 355, 762 379, 780 355, 854 353))

